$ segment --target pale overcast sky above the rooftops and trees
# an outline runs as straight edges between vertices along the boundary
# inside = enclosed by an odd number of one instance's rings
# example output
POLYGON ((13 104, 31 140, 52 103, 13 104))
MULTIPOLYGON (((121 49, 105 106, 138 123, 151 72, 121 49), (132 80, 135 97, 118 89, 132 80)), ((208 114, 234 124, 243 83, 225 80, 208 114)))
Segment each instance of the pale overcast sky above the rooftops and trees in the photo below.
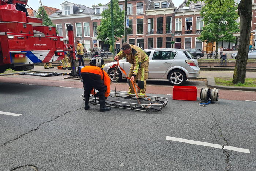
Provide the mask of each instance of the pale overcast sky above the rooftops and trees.
MULTIPOLYGON (((65 2, 65 0, 41 0, 42 4, 48 7, 53 7, 60 9, 60 4, 65 2)), ((110 0, 69 0, 68 2, 74 3, 74 4, 82 4, 87 7, 92 7, 92 5, 102 3, 102 4, 107 4, 110 2, 110 0)), ((183 0, 172 0, 174 3, 175 7, 179 7, 179 5, 183 2, 183 0)), ((33 8, 33 9, 38 9, 39 7, 39 0, 29 0, 28 5, 33 8)))

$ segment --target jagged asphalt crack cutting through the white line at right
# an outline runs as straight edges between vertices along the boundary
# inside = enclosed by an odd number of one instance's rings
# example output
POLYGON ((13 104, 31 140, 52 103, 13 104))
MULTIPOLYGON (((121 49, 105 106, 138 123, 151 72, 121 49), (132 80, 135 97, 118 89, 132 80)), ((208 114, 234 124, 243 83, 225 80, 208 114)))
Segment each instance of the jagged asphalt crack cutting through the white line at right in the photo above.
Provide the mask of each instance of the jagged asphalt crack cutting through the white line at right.
POLYGON ((230 162, 229 162, 229 157, 230 157, 230 155, 229 155, 229 152, 224 149, 224 147, 225 147, 226 145, 229 145, 229 144, 228 144, 227 140, 224 138, 224 135, 222 134, 222 129, 221 129, 221 127, 218 125, 218 123, 220 123, 220 122, 218 122, 218 121, 216 120, 216 118, 215 118, 215 116, 214 116, 213 113, 212 113, 212 116, 213 116, 213 118, 214 118, 215 124, 214 124, 213 127, 211 127, 211 133, 214 134, 214 137, 215 137, 216 141, 222 146, 223 154, 226 156, 225 161, 226 161, 226 163, 227 163, 227 166, 225 167, 225 170, 229 170, 229 169, 231 169, 231 166, 232 166, 232 165, 230 164, 230 162), (218 129, 217 129, 217 127, 218 127, 218 129), (213 132, 214 129, 217 129, 217 130, 216 130, 217 133, 214 133, 214 132, 213 132), (219 134, 219 135, 217 135, 217 134, 219 134), (222 145, 222 144, 223 144, 223 145, 222 145))

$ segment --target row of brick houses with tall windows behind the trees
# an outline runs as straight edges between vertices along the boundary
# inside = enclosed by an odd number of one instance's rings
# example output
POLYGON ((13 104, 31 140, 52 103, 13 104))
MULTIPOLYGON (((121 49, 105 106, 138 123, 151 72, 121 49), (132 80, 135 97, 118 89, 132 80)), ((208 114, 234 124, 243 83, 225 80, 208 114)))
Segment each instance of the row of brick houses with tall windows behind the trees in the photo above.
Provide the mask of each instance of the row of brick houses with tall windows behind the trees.
MULTIPOLYGON (((237 3, 240 0, 235 0, 237 3)), ((253 1, 253 19, 251 44, 255 42, 256 33, 256 0, 253 1)), ((109 3, 108 3, 109 4, 109 3)), ((59 36, 64 37, 68 43, 67 25, 74 26, 75 40, 83 40, 87 50, 98 43, 100 48, 108 51, 109 45, 97 40, 97 26, 101 23, 101 13, 108 9, 105 6, 89 8, 85 5, 74 4, 65 1, 61 10, 56 11, 49 17, 56 24, 59 36), (82 38, 81 38, 82 37, 82 38)), ((204 2, 197 1, 186 4, 186 0, 178 7, 174 7, 171 0, 128 0, 127 15, 131 30, 127 33, 127 41, 143 49, 147 48, 199 48, 205 52, 214 51, 216 42, 201 42, 197 39, 204 26, 200 10, 204 2), (171 44, 171 42, 175 42, 171 44)), ((119 7, 122 11, 124 0, 119 0, 119 7)), ((239 22, 239 19, 237 20, 239 22)), ((237 48, 239 45, 239 33, 235 43, 219 42, 219 46, 237 48)), ((74 40, 74 41, 75 41, 74 40)), ((116 51, 120 51, 123 38, 116 41, 116 51)))

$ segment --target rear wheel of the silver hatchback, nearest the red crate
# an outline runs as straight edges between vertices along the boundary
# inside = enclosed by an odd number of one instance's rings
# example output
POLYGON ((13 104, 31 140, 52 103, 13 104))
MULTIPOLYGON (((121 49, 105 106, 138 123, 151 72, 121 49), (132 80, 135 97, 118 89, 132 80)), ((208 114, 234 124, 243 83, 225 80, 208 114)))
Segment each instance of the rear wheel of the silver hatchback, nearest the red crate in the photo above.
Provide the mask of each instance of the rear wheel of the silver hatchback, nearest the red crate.
POLYGON ((181 70, 173 70, 168 79, 171 85, 182 85, 186 81, 186 75, 181 70))

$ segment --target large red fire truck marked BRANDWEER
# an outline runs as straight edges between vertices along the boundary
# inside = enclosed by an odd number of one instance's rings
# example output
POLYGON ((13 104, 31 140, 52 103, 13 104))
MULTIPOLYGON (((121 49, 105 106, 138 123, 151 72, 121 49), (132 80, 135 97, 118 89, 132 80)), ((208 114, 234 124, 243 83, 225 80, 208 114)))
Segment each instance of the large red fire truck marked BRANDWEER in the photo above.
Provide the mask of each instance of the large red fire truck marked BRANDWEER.
POLYGON ((27 16, 21 10, 27 1, 0 0, 0 73, 31 70, 36 63, 64 57, 63 37, 55 27, 42 26, 41 18, 27 16))

